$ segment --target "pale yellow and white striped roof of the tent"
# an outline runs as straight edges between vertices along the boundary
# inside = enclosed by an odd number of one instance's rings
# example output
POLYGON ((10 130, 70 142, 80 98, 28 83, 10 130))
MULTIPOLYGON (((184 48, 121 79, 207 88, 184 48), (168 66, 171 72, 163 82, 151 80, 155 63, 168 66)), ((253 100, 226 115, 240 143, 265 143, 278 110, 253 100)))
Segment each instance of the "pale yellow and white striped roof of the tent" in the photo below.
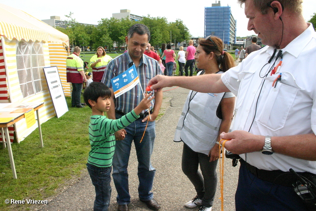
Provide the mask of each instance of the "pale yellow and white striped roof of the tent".
POLYGON ((8 40, 69 42, 68 36, 19 9, 0 4, 0 36, 8 40))

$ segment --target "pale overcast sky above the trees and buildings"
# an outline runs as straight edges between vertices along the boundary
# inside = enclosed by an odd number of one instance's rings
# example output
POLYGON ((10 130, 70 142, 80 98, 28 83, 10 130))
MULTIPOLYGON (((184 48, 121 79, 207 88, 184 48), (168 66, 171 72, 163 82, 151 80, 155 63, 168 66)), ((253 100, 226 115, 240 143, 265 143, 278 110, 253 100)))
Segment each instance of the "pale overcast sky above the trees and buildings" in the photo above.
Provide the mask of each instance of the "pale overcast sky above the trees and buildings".
MULTIPOLYGON (((195 1, 193 1, 195 2, 195 1)), ((80 23, 98 24, 101 18, 111 18, 112 13, 121 9, 129 9, 132 14, 139 16, 166 17, 169 22, 181 19, 188 27, 193 37, 204 36, 204 8, 209 7, 215 0, 201 0, 194 3, 177 0, 0 0, 0 3, 23 10, 40 20, 50 19, 50 16, 60 16, 73 12, 73 18, 80 23), (151 2, 151 3, 149 3, 151 2)), ((234 18, 237 20, 237 36, 254 35, 247 30, 247 21, 243 8, 237 0, 221 0, 222 6, 231 6, 234 18)), ((306 21, 316 12, 316 0, 303 0, 303 16, 306 21)))

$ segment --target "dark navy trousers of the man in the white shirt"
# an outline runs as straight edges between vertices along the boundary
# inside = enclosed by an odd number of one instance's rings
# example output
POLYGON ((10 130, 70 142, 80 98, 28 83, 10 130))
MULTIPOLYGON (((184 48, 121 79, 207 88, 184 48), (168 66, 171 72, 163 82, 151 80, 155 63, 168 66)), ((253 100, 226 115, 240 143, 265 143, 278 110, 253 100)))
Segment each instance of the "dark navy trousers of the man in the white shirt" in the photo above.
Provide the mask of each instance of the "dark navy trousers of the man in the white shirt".
POLYGON ((293 187, 263 181, 240 163, 236 211, 308 211, 293 187))

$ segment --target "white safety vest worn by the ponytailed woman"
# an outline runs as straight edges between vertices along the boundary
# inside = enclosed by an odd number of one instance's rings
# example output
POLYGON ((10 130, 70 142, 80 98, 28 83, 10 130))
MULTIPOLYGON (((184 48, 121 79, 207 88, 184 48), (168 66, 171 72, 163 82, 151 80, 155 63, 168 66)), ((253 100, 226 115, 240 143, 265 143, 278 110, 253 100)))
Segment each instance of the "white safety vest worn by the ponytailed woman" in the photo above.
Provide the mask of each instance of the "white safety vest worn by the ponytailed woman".
POLYGON ((217 140, 222 123, 216 116, 216 110, 224 94, 225 92, 201 93, 191 90, 173 140, 183 141, 193 151, 208 155, 217 140))

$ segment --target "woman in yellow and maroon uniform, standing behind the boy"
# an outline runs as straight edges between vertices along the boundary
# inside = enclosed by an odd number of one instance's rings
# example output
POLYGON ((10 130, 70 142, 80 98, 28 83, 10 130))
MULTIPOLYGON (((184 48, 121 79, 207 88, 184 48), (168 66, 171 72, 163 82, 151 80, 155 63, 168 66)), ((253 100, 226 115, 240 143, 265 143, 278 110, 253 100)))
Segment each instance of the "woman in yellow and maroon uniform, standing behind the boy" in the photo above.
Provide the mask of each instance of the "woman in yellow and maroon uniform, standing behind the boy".
POLYGON ((90 67, 92 68, 93 82, 101 82, 105 68, 112 57, 107 55, 104 48, 99 46, 97 52, 90 59, 90 67))

